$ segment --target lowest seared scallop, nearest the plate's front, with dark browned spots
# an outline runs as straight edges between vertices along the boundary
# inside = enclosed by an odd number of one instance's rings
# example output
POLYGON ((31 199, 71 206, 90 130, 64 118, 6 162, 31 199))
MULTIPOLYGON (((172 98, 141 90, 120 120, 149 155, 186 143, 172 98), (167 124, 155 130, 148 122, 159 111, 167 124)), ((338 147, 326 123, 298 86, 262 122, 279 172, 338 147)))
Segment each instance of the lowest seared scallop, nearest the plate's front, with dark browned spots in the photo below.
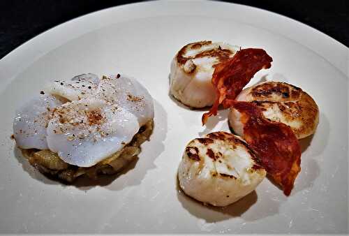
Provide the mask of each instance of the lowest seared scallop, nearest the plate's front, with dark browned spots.
POLYGON ((257 156, 236 135, 209 133, 186 145, 178 179, 184 193, 200 202, 223 207, 251 193, 266 175, 257 156))

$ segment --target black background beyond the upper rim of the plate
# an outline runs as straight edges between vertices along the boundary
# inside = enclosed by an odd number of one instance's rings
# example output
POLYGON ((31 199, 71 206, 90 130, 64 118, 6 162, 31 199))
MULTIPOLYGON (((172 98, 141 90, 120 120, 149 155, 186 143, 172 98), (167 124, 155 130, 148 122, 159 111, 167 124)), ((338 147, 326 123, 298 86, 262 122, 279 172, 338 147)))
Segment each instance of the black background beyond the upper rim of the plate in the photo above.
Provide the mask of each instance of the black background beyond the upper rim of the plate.
MULTIPOLYGON (((0 0, 0 59, 30 38, 80 15, 135 1, 0 0)), ((348 1, 231 1, 288 16, 349 46, 348 1)))

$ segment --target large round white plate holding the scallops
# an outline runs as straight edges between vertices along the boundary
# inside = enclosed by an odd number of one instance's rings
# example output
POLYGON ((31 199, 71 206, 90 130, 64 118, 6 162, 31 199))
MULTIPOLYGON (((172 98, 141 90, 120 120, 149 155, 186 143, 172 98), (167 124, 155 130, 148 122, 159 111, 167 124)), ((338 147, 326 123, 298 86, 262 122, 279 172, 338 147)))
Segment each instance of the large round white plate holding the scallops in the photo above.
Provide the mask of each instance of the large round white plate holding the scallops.
MULTIPOLYGON (((0 61, 0 233, 346 233, 348 232, 348 48, 304 24, 230 3, 156 1, 101 10, 61 24, 0 61), (251 83, 287 80, 320 107, 302 141, 302 172, 285 197, 268 179, 225 209, 177 189, 186 143, 202 133, 201 111, 168 96, 170 61, 196 40, 262 47, 274 59, 251 83), (123 72, 155 100, 155 130, 134 166, 117 178, 66 186, 16 151, 15 108, 44 82, 123 72)), ((228 131, 226 112, 209 127, 228 131), (215 126, 214 124, 217 123, 215 126)))

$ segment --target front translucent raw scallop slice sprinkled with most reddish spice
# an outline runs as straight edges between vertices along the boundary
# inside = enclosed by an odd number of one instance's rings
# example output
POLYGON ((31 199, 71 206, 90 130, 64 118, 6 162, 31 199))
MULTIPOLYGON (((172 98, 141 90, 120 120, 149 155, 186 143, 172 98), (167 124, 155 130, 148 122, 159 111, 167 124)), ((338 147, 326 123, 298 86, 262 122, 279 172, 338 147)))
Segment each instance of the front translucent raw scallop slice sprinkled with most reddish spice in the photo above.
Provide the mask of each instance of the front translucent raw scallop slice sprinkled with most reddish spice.
POLYGON ((90 167, 119 151, 139 128, 137 117, 128 110, 84 98, 54 110, 47 144, 66 163, 90 167))

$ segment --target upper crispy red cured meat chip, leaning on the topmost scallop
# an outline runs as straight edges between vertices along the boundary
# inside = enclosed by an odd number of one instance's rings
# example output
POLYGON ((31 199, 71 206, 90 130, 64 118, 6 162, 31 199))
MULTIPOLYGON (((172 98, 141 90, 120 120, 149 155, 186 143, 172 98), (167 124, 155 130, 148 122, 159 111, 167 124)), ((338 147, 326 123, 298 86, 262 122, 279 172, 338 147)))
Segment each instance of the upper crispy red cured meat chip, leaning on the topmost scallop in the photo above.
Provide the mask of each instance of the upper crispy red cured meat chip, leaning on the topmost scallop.
POLYGON ((265 50, 246 48, 239 50, 228 61, 218 64, 212 75, 212 84, 216 87, 218 98, 209 112, 202 115, 202 125, 211 115, 217 115, 220 104, 229 108, 253 75, 262 68, 270 68, 272 61, 272 57, 265 50))

